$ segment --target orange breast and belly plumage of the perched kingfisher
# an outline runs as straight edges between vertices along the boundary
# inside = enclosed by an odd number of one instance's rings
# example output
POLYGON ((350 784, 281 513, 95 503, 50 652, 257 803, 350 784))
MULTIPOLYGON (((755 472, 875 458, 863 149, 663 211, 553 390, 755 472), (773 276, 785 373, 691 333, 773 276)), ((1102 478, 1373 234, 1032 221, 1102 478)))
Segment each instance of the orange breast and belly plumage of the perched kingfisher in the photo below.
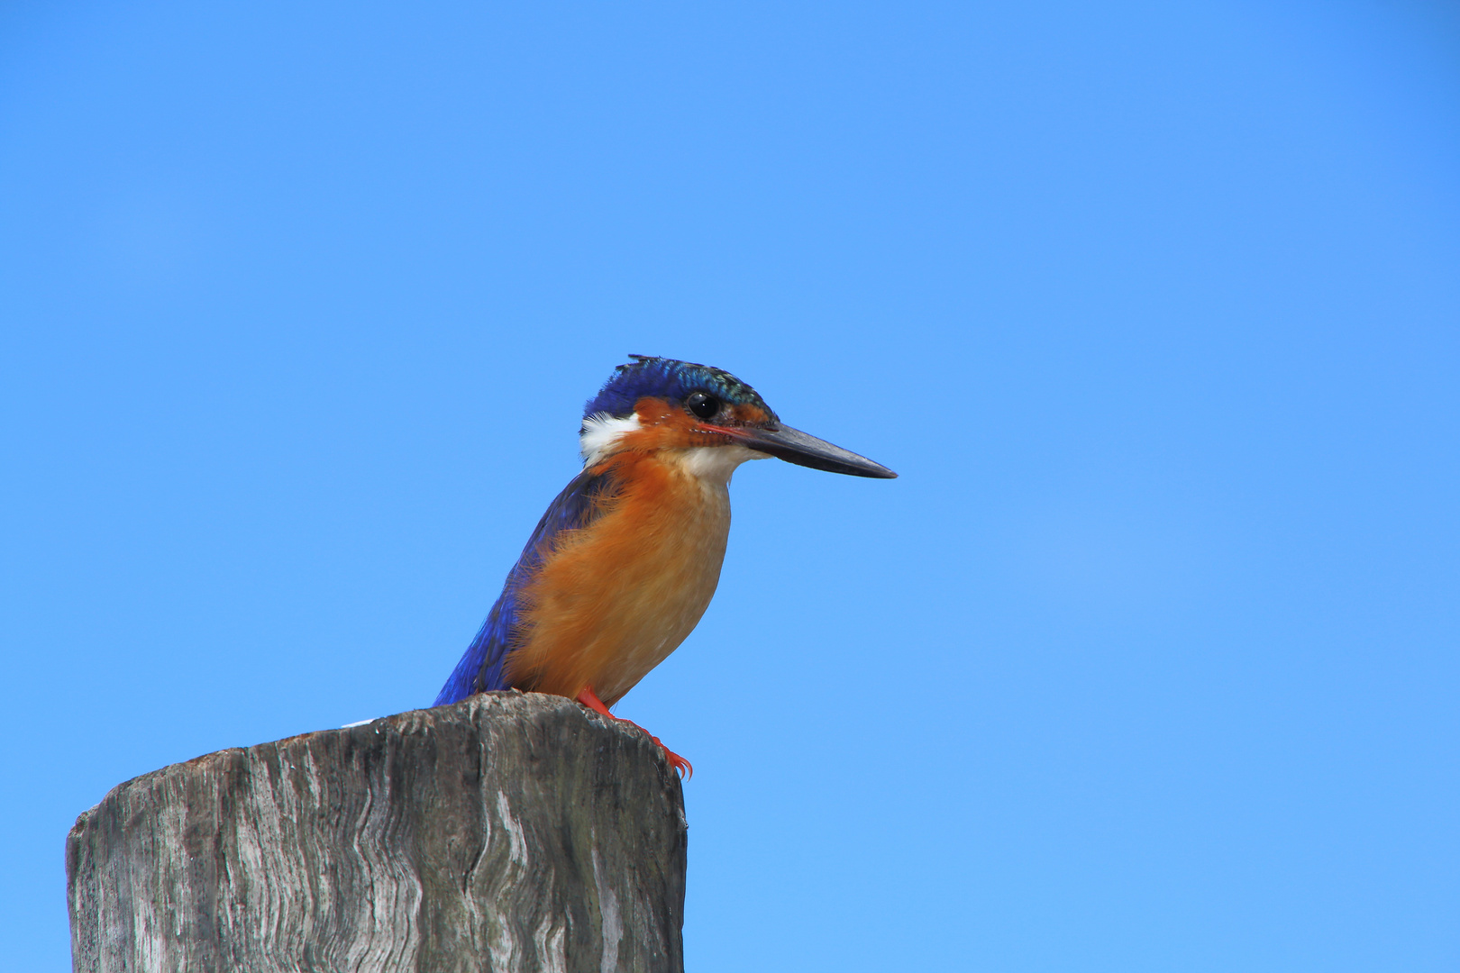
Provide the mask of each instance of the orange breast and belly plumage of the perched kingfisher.
POLYGON ((610 460, 620 489, 606 512, 562 535, 523 589, 512 686, 613 705, 694 630, 720 581, 730 495, 677 452, 610 460))

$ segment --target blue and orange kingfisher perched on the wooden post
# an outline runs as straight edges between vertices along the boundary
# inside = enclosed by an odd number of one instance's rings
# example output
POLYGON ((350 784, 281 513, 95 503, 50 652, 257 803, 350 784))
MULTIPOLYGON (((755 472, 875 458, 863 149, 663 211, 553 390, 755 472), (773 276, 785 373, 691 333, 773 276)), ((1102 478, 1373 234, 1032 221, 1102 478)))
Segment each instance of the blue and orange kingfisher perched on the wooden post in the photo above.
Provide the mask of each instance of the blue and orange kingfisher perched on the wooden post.
MULTIPOLYGON (((584 407, 583 471, 537 522, 435 706, 517 689, 566 696, 619 719, 609 708, 677 649, 710 607, 730 535, 736 467, 777 457, 829 473, 896 477, 783 425, 729 372, 629 357, 584 407)), ((694 773, 650 738, 675 770, 694 773)))

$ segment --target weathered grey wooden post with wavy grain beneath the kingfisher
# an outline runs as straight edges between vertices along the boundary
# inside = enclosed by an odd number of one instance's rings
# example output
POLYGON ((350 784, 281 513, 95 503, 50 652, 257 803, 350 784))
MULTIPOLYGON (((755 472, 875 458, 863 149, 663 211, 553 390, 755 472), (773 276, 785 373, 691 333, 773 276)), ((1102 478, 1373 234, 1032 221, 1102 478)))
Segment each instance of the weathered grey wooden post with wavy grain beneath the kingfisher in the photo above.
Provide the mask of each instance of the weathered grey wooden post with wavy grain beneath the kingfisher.
POLYGON ((491 693, 128 780, 66 842, 88 973, 683 969, 658 748, 491 693))

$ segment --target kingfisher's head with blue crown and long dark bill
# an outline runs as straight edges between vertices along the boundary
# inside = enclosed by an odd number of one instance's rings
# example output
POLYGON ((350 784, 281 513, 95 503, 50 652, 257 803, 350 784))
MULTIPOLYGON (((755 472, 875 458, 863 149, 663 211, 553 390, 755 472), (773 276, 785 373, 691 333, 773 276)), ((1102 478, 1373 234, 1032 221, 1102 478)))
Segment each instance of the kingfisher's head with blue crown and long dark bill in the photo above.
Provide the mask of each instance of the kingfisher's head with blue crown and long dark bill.
POLYGON ((891 478, 880 462, 781 423, 761 395, 708 365, 631 354, 583 411, 580 442, 593 465, 626 449, 692 449, 726 476, 745 460, 778 457, 813 470, 891 478), (714 452, 699 454, 699 448, 714 452), (723 451, 723 452, 720 452, 723 451))

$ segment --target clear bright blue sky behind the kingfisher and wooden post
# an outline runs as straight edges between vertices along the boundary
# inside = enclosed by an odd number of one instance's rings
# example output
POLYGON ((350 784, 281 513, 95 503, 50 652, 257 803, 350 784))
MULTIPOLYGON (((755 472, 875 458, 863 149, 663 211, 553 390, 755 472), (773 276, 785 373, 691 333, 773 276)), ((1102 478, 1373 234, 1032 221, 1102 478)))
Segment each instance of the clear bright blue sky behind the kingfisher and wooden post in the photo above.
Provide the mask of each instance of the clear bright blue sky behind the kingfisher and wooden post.
POLYGON ((429 705, 626 353, 731 970, 1460 966, 1447 4, 0 7, 0 966, 112 785, 429 705))

